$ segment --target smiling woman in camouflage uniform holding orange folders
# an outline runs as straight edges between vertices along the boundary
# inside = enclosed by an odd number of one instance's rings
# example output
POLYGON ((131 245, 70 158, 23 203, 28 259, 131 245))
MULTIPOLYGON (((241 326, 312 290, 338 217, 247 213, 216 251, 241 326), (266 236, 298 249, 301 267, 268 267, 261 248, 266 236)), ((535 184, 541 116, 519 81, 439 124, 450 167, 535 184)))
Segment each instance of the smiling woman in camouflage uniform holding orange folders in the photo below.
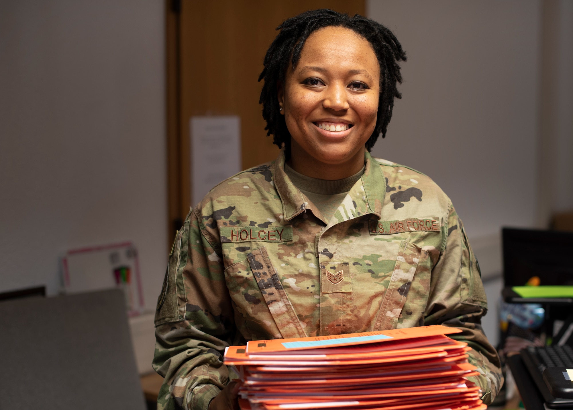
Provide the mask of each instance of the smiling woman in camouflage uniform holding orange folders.
POLYGON ((332 10, 278 29, 260 102, 281 150, 213 188, 176 235, 155 316, 159 408, 238 408, 229 345, 423 324, 461 328, 491 403, 503 378, 461 220, 429 177, 370 155, 400 97, 401 45, 332 10))

